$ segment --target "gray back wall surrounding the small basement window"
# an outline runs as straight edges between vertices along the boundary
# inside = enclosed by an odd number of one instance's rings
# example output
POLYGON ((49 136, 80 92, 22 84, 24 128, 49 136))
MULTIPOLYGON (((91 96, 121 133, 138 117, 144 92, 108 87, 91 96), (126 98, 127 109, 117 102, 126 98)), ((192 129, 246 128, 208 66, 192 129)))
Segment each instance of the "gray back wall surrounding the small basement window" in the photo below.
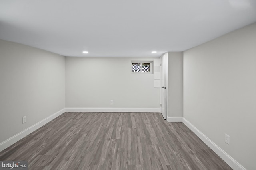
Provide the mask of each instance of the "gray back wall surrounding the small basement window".
POLYGON ((159 108, 154 74, 132 73, 132 60, 154 58, 66 57, 66 107, 159 108))

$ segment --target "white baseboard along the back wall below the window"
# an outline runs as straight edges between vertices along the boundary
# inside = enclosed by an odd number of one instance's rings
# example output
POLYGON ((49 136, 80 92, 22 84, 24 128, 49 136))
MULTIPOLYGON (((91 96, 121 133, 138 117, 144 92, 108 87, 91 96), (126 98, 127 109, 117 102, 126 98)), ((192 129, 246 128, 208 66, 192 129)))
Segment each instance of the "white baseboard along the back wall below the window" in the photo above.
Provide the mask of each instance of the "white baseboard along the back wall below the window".
POLYGON ((66 108, 66 112, 160 112, 160 108, 66 108))

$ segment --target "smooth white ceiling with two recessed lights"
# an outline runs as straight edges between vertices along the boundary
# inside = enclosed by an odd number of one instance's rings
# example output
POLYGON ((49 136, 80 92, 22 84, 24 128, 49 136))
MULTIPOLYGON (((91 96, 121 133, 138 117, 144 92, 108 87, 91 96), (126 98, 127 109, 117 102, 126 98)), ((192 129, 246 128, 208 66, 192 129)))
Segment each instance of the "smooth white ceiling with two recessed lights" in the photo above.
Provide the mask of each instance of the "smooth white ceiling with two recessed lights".
POLYGON ((0 39, 64 56, 155 57, 254 22, 256 0, 0 0, 0 39))

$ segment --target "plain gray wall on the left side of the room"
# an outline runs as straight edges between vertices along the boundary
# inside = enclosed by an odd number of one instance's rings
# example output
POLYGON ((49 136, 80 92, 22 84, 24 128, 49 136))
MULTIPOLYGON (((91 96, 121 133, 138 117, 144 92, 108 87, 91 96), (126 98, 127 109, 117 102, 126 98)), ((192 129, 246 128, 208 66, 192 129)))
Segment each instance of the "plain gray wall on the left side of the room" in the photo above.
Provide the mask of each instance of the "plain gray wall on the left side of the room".
POLYGON ((0 40, 0 143, 64 108, 65 57, 0 40))

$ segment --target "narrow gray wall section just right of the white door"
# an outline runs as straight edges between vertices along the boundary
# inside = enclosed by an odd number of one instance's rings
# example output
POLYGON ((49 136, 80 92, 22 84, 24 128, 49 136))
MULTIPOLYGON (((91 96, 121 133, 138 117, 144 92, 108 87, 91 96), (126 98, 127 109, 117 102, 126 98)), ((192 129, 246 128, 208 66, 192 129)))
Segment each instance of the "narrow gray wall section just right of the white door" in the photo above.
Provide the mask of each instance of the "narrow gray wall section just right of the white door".
POLYGON ((182 117, 182 52, 168 52, 167 117, 182 117))

